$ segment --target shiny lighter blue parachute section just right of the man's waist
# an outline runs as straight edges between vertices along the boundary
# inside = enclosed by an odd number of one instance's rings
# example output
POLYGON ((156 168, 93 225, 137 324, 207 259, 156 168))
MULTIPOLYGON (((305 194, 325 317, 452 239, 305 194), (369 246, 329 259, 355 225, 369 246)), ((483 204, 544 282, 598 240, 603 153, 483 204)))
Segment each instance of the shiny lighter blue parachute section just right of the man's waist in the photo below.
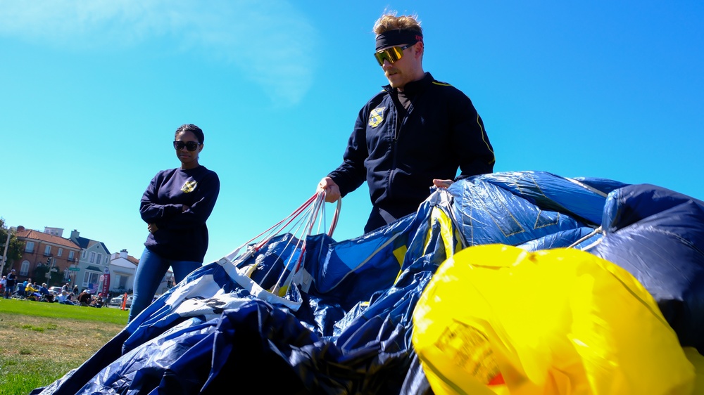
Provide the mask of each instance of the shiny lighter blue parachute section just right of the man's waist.
POLYGON ((592 221, 598 224, 607 196, 567 179, 537 172, 470 177, 453 183, 448 191, 453 195, 453 213, 467 245, 517 246, 589 226, 592 221), (598 209, 590 205, 598 205, 598 209))

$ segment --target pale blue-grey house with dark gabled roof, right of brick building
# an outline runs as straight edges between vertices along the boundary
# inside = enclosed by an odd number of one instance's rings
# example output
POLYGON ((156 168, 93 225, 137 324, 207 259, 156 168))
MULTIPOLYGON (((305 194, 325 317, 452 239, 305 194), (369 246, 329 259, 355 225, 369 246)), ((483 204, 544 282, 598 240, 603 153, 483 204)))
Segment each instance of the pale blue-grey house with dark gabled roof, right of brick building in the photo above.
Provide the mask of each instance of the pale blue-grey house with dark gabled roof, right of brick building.
POLYGON ((80 237, 80 232, 73 230, 70 240, 81 247, 78 258, 75 283, 80 290, 91 289, 99 292, 98 283, 100 276, 110 273, 110 252, 103 242, 80 237))

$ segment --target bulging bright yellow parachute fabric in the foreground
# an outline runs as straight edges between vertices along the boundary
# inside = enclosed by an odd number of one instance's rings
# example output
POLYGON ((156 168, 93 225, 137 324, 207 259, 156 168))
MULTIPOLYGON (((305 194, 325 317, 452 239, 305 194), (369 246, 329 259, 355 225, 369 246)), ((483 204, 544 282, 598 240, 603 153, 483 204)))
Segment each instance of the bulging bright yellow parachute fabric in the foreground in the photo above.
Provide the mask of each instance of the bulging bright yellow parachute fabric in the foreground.
POLYGON ((439 267, 413 321, 436 394, 694 390, 694 367, 653 297, 579 250, 467 248, 439 267))

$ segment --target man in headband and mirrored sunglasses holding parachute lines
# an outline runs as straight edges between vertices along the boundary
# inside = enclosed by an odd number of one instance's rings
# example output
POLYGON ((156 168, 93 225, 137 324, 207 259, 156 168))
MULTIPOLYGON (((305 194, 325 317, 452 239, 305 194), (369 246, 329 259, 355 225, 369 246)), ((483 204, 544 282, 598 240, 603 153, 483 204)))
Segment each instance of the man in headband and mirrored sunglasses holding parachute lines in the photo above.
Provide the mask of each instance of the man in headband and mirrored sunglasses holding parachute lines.
POLYGON ((432 186, 491 173, 496 162, 470 98, 423 71, 417 19, 387 14, 374 30, 389 85, 360 110, 344 161, 318 184, 336 202, 367 181, 373 207, 365 233, 415 212, 432 186))

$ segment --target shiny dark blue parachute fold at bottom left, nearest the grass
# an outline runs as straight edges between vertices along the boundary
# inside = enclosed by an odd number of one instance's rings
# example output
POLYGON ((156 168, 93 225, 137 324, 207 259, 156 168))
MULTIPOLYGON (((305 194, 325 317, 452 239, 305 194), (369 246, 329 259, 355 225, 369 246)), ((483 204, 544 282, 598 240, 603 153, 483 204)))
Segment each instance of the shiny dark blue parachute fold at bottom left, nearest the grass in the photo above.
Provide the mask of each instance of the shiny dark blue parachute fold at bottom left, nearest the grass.
POLYGON ((317 340, 289 313, 249 300, 206 323, 175 325, 71 393, 220 394, 237 386, 244 391, 253 382, 263 393, 296 393, 302 384, 285 356, 317 340), (272 332, 277 336, 270 339, 272 332))

